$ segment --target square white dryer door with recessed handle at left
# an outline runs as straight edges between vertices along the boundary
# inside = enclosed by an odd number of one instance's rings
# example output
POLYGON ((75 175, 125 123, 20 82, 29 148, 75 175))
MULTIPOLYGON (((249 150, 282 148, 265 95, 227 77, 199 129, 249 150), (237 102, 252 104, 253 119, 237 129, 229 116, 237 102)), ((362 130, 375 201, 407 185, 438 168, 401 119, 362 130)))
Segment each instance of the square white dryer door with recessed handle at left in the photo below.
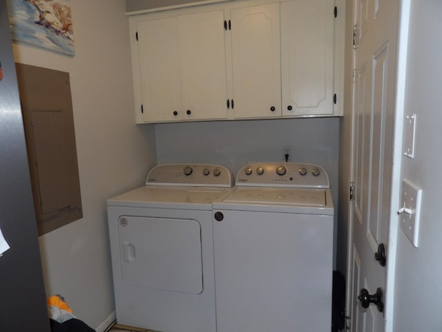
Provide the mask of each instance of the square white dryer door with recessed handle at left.
POLYGON ((198 221, 121 216, 118 235, 122 279, 128 286, 202 293, 198 221))

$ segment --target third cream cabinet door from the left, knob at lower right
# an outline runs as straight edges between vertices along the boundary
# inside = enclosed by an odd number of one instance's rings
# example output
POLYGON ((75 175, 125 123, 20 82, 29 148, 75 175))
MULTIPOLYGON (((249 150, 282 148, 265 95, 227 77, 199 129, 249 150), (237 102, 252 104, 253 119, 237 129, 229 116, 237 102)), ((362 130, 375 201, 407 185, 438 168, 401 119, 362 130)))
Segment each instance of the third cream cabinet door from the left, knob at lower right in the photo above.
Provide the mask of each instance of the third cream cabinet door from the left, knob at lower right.
POLYGON ((235 118, 281 116, 279 4, 231 10, 235 118))

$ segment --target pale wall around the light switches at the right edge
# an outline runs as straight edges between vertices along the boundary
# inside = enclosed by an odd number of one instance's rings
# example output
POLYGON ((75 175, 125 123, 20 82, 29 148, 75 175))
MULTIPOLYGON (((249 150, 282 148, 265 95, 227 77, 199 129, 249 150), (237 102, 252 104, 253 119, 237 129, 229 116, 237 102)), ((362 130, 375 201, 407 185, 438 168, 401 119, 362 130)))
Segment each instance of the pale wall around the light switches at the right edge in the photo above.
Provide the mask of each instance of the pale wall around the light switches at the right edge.
POLYGON ((423 189, 423 204, 419 248, 398 230, 393 330, 442 331, 442 2, 411 6, 405 115, 417 115, 416 158, 402 158, 402 177, 423 189))

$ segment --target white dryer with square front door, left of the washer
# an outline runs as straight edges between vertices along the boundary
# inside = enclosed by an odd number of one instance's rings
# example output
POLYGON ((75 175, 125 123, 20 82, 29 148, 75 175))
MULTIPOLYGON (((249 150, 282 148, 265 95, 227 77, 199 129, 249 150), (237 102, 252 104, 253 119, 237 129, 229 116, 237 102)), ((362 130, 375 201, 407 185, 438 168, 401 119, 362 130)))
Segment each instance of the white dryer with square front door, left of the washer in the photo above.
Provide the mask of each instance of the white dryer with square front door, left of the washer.
POLYGON ((232 185, 220 165, 159 165, 144 187, 108 199, 119 324, 216 331, 211 203, 232 185))

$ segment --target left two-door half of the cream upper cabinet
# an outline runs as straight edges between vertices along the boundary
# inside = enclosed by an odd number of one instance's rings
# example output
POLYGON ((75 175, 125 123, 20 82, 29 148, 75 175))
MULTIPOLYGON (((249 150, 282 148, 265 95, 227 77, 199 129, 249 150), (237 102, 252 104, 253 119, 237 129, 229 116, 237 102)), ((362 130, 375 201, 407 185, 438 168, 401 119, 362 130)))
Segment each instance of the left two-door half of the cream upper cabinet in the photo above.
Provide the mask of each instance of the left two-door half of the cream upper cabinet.
POLYGON ((223 10, 135 22, 138 123, 227 118, 223 22, 223 10))

